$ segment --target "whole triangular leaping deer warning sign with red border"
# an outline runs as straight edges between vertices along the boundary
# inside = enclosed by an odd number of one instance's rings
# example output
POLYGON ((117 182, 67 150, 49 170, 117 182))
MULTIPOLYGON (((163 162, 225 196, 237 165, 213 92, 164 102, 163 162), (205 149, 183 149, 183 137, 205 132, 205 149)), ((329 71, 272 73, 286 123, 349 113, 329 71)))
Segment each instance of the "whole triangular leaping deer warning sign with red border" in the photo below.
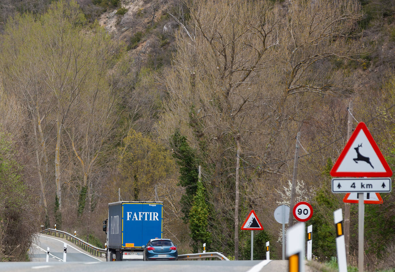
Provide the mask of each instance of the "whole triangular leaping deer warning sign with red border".
MULTIPOLYGON (((367 129, 360 122, 333 165, 332 177, 391 177, 384 156, 367 129)), ((354 191, 350 191, 354 192, 354 191)))

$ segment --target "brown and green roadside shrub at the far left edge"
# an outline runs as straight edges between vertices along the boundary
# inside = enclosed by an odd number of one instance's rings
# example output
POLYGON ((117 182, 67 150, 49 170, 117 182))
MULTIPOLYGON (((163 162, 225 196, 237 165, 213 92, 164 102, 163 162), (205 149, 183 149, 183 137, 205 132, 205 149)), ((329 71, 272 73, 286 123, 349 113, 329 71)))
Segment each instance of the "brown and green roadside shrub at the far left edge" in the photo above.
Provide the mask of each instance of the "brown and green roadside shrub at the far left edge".
POLYGON ((0 126, 0 261, 26 261, 33 242, 34 212, 29 207, 23 167, 17 161, 15 143, 0 126))

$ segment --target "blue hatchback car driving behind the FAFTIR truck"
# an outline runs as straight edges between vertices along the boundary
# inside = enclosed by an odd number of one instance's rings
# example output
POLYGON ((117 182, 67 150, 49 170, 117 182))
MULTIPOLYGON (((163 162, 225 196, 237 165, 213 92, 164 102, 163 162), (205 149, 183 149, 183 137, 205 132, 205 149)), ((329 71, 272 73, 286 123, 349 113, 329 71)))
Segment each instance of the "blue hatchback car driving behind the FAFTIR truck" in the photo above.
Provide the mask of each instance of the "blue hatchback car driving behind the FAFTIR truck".
POLYGON ((177 260, 177 247, 170 239, 151 239, 144 247, 144 261, 177 260))

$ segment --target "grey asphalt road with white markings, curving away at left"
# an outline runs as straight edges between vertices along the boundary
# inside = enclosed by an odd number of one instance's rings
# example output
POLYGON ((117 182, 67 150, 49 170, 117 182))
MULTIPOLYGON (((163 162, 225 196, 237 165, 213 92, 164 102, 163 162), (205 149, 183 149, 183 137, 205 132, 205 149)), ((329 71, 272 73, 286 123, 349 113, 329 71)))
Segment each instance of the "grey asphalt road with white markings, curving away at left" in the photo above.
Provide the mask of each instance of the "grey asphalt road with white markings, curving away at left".
MULTIPOLYGON (((0 263, 1 272, 126 272, 126 271, 192 271, 192 272, 287 272, 288 261, 122 261, 106 262, 92 256, 62 238, 40 235, 31 248, 31 262, 0 263), (66 262, 63 262, 63 243, 67 245, 66 262), (50 248, 46 263, 47 247, 50 248)), ((305 266, 305 272, 313 272, 305 266)))

